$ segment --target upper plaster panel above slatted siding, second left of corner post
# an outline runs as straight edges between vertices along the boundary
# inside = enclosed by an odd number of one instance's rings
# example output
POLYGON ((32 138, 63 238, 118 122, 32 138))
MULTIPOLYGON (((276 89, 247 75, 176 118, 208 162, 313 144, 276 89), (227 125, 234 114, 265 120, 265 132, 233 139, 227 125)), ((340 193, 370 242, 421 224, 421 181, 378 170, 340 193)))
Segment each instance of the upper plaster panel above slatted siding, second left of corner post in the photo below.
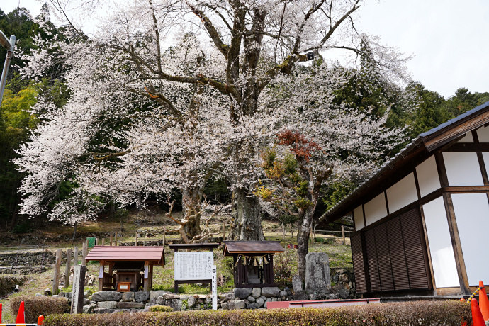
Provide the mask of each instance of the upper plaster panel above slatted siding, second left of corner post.
POLYGON ((405 176, 403 179, 387 189, 389 213, 394 213, 396 210, 400 210, 414 201, 417 201, 414 173, 408 174, 408 176, 405 176))

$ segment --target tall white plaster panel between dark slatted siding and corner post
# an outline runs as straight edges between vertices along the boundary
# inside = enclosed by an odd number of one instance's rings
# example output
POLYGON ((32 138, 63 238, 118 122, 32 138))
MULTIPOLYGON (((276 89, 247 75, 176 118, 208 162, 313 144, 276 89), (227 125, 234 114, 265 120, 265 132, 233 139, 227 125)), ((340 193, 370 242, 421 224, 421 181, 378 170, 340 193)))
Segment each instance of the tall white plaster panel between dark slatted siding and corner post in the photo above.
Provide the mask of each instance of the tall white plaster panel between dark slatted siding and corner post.
POLYGON ((423 205, 429 252, 432 257, 434 282, 437 288, 460 286, 456 271, 454 249, 451 245, 443 198, 423 205))

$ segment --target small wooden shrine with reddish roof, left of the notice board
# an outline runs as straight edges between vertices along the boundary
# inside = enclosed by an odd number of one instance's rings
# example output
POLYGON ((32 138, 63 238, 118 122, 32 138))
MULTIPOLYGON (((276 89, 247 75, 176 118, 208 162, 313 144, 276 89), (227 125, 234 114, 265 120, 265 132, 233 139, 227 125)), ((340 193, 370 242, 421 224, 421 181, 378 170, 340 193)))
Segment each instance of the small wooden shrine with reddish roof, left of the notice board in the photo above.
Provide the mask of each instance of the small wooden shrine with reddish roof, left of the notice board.
POLYGON ((153 266, 164 266, 164 247, 95 246, 86 261, 100 262, 99 291, 147 292, 153 285, 153 266))

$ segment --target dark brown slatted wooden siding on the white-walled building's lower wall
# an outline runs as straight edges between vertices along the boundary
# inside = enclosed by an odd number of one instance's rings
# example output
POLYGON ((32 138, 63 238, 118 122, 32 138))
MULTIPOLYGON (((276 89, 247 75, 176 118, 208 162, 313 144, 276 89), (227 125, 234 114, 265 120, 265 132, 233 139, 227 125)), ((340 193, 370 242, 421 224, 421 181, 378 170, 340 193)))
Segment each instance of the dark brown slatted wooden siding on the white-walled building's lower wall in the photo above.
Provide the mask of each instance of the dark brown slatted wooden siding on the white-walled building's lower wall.
POLYGON ((352 236, 354 271, 365 280, 356 285, 357 292, 431 289, 421 231, 419 214, 412 209, 352 236), (360 250, 362 236, 365 245, 360 250))

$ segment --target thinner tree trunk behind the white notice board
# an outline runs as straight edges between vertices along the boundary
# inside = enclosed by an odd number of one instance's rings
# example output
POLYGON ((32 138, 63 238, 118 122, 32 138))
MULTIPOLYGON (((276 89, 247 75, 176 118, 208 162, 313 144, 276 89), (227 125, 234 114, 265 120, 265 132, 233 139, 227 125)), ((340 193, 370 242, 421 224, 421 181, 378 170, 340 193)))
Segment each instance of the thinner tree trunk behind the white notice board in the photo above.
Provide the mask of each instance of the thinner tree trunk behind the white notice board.
POLYGON ((184 187, 181 191, 181 213, 192 215, 189 223, 184 226, 184 231, 189 239, 201 234, 201 204, 199 187, 184 187))

